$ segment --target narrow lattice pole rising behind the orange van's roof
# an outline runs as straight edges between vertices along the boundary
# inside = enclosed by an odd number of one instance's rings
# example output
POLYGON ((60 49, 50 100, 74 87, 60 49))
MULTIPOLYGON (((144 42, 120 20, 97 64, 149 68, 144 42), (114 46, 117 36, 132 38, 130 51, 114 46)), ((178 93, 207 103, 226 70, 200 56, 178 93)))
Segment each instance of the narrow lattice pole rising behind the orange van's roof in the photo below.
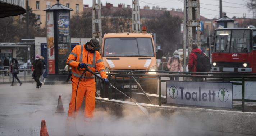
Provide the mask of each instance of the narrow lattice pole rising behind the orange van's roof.
POLYGON ((139 33, 140 32, 140 6, 139 0, 132 1, 132 31, 139 33))

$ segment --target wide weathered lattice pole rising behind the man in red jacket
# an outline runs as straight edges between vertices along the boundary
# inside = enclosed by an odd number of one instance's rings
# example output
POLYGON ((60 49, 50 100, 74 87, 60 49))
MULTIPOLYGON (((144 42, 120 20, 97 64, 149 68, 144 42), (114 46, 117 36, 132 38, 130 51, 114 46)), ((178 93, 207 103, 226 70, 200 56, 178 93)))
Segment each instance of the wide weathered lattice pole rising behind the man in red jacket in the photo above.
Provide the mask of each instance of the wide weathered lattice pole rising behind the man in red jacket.
MULTIPOLYGON (((191 53, 191 45, 196 43, 198 48, 201 47, 201 35, 200 35, 200 5, 199 0, 184 0, 184 22, 186 22, 186 28, 184 28, 184 46, 188 44, 188 55, 191 53), (197 27, 197 37, 196 37, 197 27), (185 32, 186 31, 186 32, 185 32), (187 36, 187 38, 186 38, 187 36)), ((186 48, 183 48, 184 58, 186 57, 186 48), (185 51, 185 52, 184 52, 185 51)), ((189 59, 189 58, 188 58, 189 59)), ((184 66, 186 66, 186 59, 184 59, 184 66)), ((184 68, 183 68, 184 69, 184 68)), ((186 70, 186 68, 184 69, 186 70)))

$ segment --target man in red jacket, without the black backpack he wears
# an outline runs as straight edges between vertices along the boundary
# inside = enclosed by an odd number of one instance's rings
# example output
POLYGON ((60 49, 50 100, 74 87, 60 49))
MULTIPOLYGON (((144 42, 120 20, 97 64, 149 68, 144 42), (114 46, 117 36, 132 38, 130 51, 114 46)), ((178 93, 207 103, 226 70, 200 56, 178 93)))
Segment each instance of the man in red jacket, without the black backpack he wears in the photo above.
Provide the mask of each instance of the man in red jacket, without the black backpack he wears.
MULTIPOLYGON (((197 55, 195 53, 198 53, 199 55, 202 54, 202 50, 198 48, 198 45, 196 43, 193 43, 191 45, 192 52, 189 54, 189 60, 188 60, 188 70, 189 72, 198 72, 197 71, 197 55)), ((203 54, 205 55, 205 54, 203 54)), ((196 74, 193 74, 196 75, 196 74)), ((192 77, 192 81, 203 81, 204 78, 202 77, 192 77)))

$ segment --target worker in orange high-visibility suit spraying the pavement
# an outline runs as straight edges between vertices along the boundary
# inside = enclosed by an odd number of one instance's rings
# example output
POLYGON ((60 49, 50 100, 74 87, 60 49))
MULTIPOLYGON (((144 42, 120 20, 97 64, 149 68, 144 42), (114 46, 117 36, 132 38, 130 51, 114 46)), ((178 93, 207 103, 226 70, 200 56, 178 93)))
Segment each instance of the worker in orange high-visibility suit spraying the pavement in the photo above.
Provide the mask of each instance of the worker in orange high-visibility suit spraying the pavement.
MULTIPOLYGON (((100 57, 99 50, 100 45, 98 40, 91 39, 90 42, 86 43, 85 45, 76 45, 67 59, 67 64, 72 67, 72 96, 69 103, 68 118, 74 118, 76 116, 74 115, 76 89, 79 78, 83 73, 83 71, 78 71, 77 67, 85 68, 85 65, 87 65, 92 72, 95 72, 97 69, 97 71, 100 73, 100 76, 104 79, 104 82, 109 82, 105 72, 104 64, 100 57)), ((85 121, 91 120, 95 108, 96 88, 94 78, 95 76, 87 71, 79 82, 77 89, 76 111, 79 110, 83 101, 83 97, 85 97, 85 121)))

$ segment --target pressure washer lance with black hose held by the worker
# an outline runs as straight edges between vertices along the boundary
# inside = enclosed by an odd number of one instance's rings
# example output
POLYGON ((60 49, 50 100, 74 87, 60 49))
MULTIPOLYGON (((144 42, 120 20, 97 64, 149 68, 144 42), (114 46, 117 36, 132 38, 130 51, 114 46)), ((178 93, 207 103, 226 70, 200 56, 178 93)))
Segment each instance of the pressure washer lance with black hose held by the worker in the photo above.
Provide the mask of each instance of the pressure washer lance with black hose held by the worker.
MULTIPOLYGON (((97 75, 96 73, 92 72, 92 71, 87 67, 87 65, 86 65, 85 67, 86 67, 85 70, 80 70, 80 67, 77 67, 77 69, 78 69, 78 71, 88 71, 88 72, 92 73, 94 76, 96 76, 97 78, 99 78, 99 79, 101 79, 102 81, 104 81, 103 78, 101 78, 101 77, 100 77, 99 75, 97 75)), ((83 73, 84 73, 84 72, 83 72, 83 73)), ((81 75, 81 77, 82 77, 82 75, 81 75)), ((81 78, 81 77, 80 77, 80 78, 81 78)), ((79 83, 79 82, 78 82, 78 83, 79 83)), ((116 87, 114 87, 110 82, 108 83, 108 85, 109 85, 110 87, 114 88, 116 91, 118 91, 118 92, 124 94, 124 96, 126 96, 127 98, 131 99, 132 102, 134 102, 134 103, 141 109, 141 111, 142 111, 143 113, 145 113, 145 114, 148 116, 148 111, 147 111, 146 108, 142 107, 142 106, 139 105, 134 99, 132 99, 131 97, 127 96, 125 93, 123 93, 122 91, 120 91, 119 89, 117 89, 116 87)), ((75 110, 76 110, 76 109, 75 109, 75 110)))

